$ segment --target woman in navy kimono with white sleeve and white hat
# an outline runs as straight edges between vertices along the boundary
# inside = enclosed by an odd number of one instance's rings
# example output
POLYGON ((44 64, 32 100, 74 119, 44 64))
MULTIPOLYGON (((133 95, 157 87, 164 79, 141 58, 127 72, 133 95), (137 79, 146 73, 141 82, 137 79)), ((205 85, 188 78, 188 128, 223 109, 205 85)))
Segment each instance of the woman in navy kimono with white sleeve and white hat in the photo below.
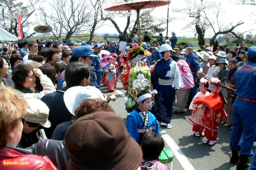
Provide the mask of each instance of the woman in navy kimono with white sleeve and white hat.
POLYGON ((178 66, 170 55, 172 53, 172 47, 168 44, 163 44, 160 48, 160 52, 163 58, 159 59, 152 67, 151 81, 153 89, 158 93, 155 96, 155 104, 151 109, 151 112, 158 120, 158 125, 161 122, 167 124, 167 128, 172 128, 172 105, 173 97, 178 90, 184 87, 182 77, 178 66))

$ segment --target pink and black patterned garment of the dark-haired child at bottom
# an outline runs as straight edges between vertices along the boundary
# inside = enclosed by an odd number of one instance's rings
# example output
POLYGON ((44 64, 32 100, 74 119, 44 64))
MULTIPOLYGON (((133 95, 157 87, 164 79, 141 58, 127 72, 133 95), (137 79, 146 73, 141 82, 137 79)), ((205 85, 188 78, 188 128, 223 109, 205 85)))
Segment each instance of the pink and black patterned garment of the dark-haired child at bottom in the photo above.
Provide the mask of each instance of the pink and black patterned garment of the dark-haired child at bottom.
POLYGON ((148 161, 148 160, 142 159, 142 162, 140 164, 140 169, 141 170, 168 170, 168 167, 156 160, 148 161))

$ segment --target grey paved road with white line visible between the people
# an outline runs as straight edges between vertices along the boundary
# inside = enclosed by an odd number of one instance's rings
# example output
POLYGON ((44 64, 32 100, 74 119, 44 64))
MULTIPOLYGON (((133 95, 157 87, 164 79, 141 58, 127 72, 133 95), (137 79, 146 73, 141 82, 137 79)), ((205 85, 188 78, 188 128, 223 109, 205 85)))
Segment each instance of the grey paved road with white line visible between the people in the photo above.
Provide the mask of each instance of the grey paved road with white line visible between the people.
MULTIPOLYGON (((125 90, 122 87, 119 80, 115 92, 108 93, 106 87, 102 87, 101 91, 107 96, 118 94, 117 101, 110 101, 110 105, 125 123, 127 112, 124 102, 127 101, 127 96, 123 94, 125 90)), ((165 124, 160 128, 161 135, 165 139, 165 147, 174 152, 173 170, 235 170, 236 165, 229 163, 231 128, 219 125, 217 143, 210 147, 202 143, 203 138, 193 136, 192 123, 188 120, 190 115, 189 111, 185 114, 173 115, 172 129, 167 129, 165 124)))

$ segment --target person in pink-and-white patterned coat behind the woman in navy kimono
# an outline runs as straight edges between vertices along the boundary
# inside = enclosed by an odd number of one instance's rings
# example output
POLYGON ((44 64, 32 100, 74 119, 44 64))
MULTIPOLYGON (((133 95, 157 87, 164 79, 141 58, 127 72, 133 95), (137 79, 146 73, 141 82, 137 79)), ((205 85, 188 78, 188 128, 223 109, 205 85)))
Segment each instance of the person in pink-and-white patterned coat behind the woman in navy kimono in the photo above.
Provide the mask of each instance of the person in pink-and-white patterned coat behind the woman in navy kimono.
POLYGON ((190 89, 195 85, 195 83, 188 63, 183 59, 179 60, 177 56, 172 56, 172 59, 176 61, 185 85, 184 88, 180 88, 179 90, 177 102, 175 104, 175 110, 173 111, 173 114, 181 114, 185 113, 185 107, 188 103, 190 89))

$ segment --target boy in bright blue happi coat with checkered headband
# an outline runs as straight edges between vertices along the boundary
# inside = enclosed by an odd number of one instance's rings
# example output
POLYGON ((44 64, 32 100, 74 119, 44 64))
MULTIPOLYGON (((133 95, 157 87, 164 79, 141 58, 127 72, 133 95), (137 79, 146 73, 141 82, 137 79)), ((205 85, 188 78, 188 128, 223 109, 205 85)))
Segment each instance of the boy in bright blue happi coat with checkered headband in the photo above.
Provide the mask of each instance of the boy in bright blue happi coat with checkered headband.
POLYGON ((126 121, 126 128, 130 136, 139 144, 142 137, 149 131, 154 131, 158 135, 159 128, 157 119, 148 111, 151 107, 152 95, 147 90, 140 90, 137 96, 139 107, 128 114, 126 121))

